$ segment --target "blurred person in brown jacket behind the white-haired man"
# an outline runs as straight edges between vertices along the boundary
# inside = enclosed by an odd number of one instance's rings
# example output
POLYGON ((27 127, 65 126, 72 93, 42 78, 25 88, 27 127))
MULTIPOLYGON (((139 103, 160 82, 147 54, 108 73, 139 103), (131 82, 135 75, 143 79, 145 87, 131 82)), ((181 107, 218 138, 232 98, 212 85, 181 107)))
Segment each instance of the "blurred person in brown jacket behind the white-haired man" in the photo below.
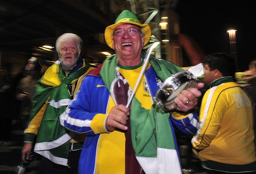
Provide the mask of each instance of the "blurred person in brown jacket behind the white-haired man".
POLYGON ((16 87, 15 97, 20 100, 20 120, 23 129, 27 127, 29 112, 31 109, 31 99, 35 92, 36 81, 40 79, 41 75, 36 67, 37 58, 31 57, 28 59, 28 64, 23 72, 25 75, 16 87))

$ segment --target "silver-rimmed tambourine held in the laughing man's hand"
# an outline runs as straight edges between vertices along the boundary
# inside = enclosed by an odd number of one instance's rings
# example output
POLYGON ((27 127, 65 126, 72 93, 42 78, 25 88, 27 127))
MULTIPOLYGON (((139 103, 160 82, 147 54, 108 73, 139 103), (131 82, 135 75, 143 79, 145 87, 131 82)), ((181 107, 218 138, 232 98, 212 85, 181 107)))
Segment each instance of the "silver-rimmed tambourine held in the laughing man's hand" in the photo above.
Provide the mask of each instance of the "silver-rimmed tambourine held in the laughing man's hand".
POLYGON ((197 77, 187 70, 177 72, 168 77, 164 83, 159 86, 153 99, 164 111, 172 111, 177 108, 175 98, 183 90, 188 90, 188 88, 191 87, 196 88, 197 81, 197 77))

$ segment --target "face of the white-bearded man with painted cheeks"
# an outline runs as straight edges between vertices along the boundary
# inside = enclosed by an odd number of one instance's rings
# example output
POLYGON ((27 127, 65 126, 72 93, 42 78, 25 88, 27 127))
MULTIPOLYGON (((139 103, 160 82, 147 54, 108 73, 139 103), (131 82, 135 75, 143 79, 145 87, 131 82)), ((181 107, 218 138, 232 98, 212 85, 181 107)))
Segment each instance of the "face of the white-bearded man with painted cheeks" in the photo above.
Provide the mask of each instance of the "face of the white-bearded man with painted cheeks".
POLYGON ((64 70, 72 70, 76 65, 80 52, 81 50, 77 50, 75 40, 61 42, 58 56, 62 60, 62 68, 64 70))

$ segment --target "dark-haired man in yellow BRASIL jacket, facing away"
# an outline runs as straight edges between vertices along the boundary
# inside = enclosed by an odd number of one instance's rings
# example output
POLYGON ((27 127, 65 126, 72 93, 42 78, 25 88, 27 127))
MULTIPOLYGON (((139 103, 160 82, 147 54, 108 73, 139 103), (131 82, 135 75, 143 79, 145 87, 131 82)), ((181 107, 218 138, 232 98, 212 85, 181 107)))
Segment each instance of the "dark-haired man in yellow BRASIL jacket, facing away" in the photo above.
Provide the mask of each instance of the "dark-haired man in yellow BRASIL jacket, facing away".
POLYGON ((210 86, 202 99, 193 152, 209 174, 254 173, 252 105, 235 83, 234 59, 213 53, 204 57, 203 82, 210 86))

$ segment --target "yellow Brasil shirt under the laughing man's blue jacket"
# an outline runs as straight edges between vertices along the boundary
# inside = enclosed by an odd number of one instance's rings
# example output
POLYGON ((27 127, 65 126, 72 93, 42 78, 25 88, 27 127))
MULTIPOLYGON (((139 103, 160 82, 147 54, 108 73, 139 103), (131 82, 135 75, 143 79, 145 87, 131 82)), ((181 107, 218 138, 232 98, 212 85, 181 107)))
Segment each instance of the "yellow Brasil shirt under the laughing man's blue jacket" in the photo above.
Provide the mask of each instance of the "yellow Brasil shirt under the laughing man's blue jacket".
MULTIPOLYGON (((138 66, 124 67, 119 65, 119 72, 127 80, 134 89, 137 79, 140 75, 143 62, 138 66)), ((150 65, 148 65, 147 69, 150 65)), ((135 97, 140 101, 142 107, 150 109, 153 101, 150 96, 150 91, 145 76, 143 75, 135 97)), ((107 113, 115 106, 113 99, 110 97, 108 102, 107 113)), ((111 173, 124 174, 125 172, 125 135, 124 132, 115 130, 109 134, 101 134, 98 142, 96 155, 96 170, 95 173, 111 173)))

